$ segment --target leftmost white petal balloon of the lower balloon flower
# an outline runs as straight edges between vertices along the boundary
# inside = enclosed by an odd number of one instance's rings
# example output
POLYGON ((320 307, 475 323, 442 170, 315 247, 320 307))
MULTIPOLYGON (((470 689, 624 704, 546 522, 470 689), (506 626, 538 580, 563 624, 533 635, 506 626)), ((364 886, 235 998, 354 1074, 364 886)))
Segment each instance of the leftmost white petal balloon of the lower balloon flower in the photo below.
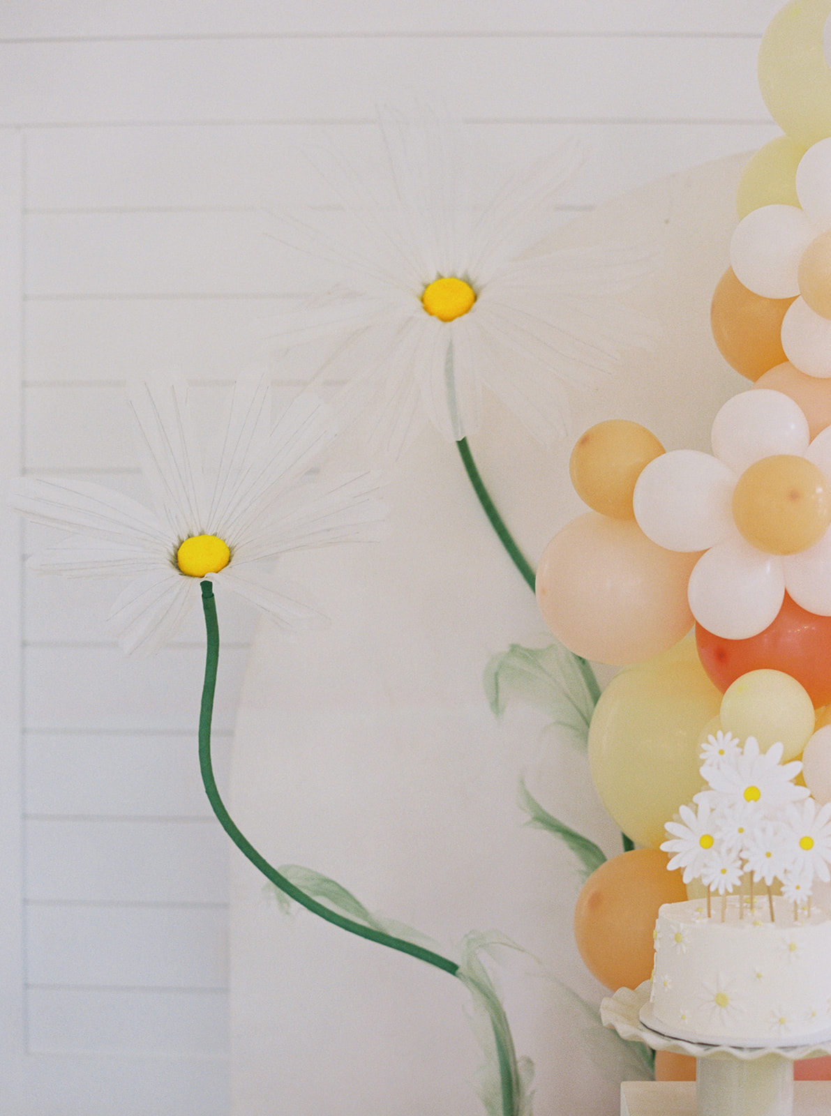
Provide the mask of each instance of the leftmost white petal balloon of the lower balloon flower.
POLYGON ((706 550, 734 531, 736 478, 717 458, 671 450, 650 461, 632 496, 643 533, 667 550, 706 550))

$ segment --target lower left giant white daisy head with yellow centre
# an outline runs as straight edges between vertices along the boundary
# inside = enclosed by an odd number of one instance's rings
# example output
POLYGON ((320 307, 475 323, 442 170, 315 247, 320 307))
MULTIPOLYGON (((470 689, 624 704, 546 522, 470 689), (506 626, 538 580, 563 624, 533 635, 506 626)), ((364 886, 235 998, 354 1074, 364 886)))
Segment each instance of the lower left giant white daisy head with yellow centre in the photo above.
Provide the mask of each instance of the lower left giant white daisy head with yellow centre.
POLYGON ((383 517, 374 477, 305 475, 337 433, 329 407, 303 395, 273 425, 268 378, 242 377, 216 460, 206 462, 183 382, 136 382, 128 398, 155 511, 99 484, 22 478, 12 482, 12 506, 71 532, 30 564, 69 577, 130 576, 109 613, 126 652, 151 654, 166 643, 202 580, 285 628, 324 620, 294 587, 275 583, 270 567, 289 550, 373 537, 383 517))

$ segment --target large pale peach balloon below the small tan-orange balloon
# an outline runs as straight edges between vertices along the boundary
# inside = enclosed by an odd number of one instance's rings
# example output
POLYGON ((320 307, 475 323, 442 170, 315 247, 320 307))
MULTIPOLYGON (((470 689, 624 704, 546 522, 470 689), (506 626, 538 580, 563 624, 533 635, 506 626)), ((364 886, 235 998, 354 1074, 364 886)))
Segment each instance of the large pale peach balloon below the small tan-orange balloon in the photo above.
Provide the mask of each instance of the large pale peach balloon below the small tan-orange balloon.
POLYGON ((543 552, 539 612, 575 654, 614 665, 640 662, 692 627, 687 579, 696 558, 662 549, 633 519, 586 512, 543 552))

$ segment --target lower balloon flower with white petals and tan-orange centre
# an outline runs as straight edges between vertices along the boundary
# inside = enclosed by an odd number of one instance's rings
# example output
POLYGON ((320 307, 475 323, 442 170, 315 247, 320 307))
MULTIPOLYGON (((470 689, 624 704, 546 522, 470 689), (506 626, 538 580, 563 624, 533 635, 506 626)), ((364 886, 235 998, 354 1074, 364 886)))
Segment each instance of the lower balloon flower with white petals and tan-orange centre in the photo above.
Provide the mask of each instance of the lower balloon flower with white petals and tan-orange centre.
POLYGON ((634 489, 641 530, 668 550, 704 551, 690 609, 726 639, 757 635, 785 590, 831 615, 831 427, 810 441, 793 400, 766 388, 733 396, 713 424, 714 454, 675 450, 634 489))

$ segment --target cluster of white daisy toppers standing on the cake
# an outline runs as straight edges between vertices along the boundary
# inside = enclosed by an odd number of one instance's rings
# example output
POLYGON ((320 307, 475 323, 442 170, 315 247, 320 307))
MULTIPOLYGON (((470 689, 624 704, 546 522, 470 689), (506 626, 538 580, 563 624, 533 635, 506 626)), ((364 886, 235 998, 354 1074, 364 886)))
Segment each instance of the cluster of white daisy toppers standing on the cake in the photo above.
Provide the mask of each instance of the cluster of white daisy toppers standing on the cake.
MULTIPOLYGON (((782 762, 781 743, 762 752, 748 737, 744 745, 729 732, 710 735, 701 750, 707 789, 668 821, 661 848, 672 856, 670 872, 682 869, 685 884, 700 879, 708 895, 726 895, 749 881, 771 894, 779 882, 797 915, 813 881, 831 878, 831 804, 818 809, 806 787, 794 782, 797 760, 782 762)), ((708 903, 709 910, 709 903, 708 903)))

